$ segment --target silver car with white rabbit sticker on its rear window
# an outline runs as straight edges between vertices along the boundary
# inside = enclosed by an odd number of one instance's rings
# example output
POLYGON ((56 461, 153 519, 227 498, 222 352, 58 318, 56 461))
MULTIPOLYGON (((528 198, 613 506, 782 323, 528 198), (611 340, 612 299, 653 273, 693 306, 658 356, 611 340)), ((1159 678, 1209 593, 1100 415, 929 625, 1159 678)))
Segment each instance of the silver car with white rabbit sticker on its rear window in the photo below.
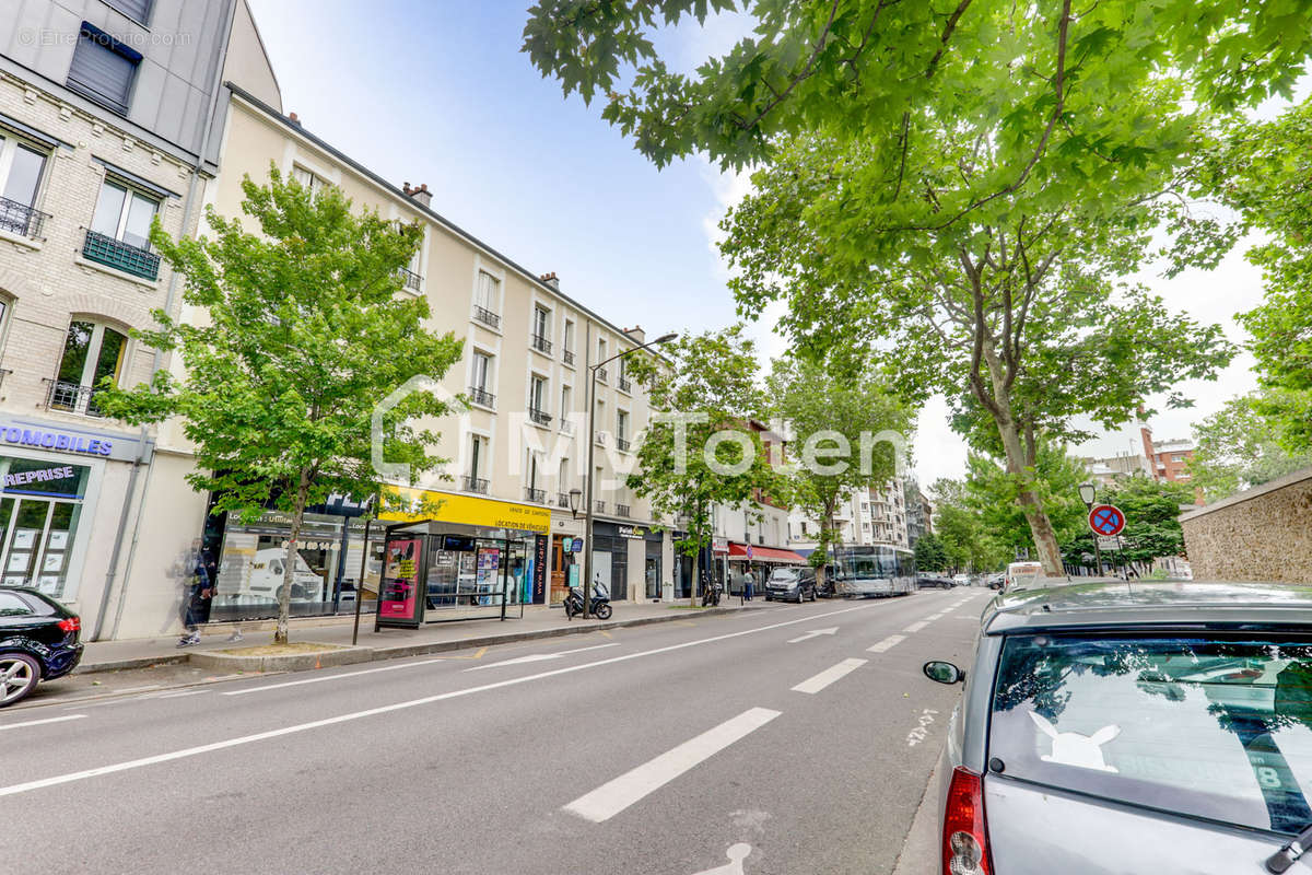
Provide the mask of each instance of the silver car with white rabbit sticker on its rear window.
POLYGON ((1260 872, 1312 824, 1312 588, 1069 584, 980 622, 966 670, 924 666, 966 682, 943 875, 1260 872))

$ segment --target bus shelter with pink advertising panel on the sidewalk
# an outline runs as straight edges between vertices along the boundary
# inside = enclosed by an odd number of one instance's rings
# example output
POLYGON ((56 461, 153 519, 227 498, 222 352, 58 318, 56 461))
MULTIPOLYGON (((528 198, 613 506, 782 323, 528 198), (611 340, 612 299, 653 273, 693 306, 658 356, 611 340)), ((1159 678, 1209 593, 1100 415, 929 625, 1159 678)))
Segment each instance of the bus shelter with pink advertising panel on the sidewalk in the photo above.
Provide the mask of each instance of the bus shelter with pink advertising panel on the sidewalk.
POLYGON ((374 631, 522 618, 535 547, 537 533, 521 529, 437 519, 388 525, 374 631))

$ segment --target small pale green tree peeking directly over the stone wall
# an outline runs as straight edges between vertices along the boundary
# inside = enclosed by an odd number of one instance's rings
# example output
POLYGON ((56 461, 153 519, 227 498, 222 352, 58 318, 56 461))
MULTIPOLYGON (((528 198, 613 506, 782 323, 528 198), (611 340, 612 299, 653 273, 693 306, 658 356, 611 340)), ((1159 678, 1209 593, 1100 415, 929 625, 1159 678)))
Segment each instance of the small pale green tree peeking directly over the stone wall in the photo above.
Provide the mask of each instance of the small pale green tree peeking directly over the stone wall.
POLYGON ((1189 460, 1195 487, 1210 501, 1312 466, 1312 449, 1291 454, 1279 443, 1281 426, 1260 409, 1281 407, 1275 391, 1232 397, 1194 426, 1198 449, 1189 460))

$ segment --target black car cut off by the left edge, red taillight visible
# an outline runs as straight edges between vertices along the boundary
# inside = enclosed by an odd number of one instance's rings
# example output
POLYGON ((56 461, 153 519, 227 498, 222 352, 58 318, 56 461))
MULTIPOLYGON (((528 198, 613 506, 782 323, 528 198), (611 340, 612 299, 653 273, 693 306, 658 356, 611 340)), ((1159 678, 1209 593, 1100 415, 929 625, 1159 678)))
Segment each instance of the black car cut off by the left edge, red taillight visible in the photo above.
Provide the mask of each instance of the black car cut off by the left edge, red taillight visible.
POLYGON ((81 619, 25 586, 0 586, 0 708, 39 681, 68 674, 81 660, 81 619))

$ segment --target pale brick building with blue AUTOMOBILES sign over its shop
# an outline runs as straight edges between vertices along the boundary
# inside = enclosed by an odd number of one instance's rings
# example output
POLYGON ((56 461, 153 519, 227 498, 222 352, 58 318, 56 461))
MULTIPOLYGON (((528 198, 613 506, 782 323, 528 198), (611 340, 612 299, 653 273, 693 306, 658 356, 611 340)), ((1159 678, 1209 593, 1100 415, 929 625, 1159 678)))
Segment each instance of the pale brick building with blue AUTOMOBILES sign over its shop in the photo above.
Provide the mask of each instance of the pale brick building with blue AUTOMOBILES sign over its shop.
POLYGON ((178 526, 143 496, 185 491, 186 466, 167 429, 106 421, 94 387, 169 365, 129 336, 176 312, 150 227, 194 230, 219 83, 270 91, 260 58, 239 0, 24 0, 0 16, 0 580, 68 602, 89 638, 112 634, 134 572, 163 581, 167 611, 181 601, 201 513, 178 526))

